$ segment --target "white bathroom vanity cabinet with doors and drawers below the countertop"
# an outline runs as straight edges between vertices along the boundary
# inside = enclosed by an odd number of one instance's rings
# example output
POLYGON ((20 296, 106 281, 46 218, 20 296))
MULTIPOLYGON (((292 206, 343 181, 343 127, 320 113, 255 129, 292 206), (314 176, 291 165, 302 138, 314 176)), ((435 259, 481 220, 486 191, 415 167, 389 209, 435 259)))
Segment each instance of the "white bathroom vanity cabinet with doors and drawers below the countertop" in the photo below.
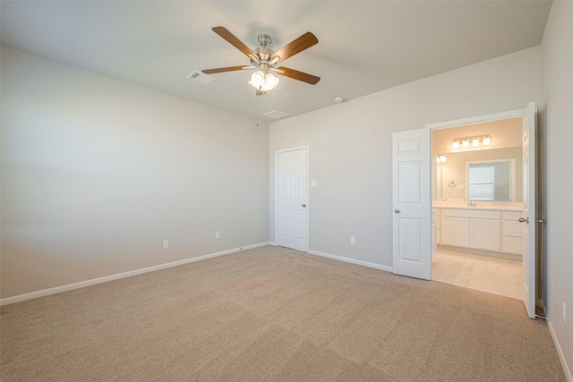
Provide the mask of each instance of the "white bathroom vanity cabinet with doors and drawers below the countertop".
POLYGON ((441 245, 510 254, 522 253, 521 211, 440 208, 441 245))

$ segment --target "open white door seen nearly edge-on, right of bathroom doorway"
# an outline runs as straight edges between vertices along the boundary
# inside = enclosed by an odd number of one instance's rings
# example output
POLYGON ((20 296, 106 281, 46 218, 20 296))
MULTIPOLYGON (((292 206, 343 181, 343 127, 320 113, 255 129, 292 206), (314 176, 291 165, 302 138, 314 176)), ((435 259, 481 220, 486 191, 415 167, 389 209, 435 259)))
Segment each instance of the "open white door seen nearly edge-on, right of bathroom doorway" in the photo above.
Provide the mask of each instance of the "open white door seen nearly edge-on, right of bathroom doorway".
POLYGON ((523 118, 523 302, 535 318, 535 103, 523 118))

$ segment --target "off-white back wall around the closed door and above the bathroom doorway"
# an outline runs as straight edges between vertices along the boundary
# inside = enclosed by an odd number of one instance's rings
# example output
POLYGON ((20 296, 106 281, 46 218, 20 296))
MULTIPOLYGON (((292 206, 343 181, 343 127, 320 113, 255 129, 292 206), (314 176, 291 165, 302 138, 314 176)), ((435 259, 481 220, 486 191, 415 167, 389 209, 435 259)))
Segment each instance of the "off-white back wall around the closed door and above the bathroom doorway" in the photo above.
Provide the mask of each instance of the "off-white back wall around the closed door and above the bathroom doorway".
POLYGON ((541 48, 534 47, 271 123, 270 240, 274 153, 309 145, 310 179, 318 182, 308 203, 310 250, 391 267, 392 132, 521 109, 540 98, 541 48))

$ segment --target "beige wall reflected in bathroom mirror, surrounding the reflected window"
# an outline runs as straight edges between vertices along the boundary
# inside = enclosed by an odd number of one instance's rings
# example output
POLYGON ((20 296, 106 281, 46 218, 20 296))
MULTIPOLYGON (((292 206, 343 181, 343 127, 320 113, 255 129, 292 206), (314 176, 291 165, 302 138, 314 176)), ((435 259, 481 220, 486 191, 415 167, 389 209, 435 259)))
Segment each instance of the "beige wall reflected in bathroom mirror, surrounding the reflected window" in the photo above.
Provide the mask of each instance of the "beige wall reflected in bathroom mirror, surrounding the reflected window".
POLYGON ((466 188, 458 189, 457 186, 466 184, 466 162, 495 160, 495 159, 516 159, 516 199, 512 201, 523 201, 523 153, 520 147, 507 149, 488 149, 446 154, 446 162, 441 166, 441 198, 438 199, 466 199, 466 188), (448 186, 453 181, 455 188, 448 186), (458 195, 454 195, 457 192, 458 195))

